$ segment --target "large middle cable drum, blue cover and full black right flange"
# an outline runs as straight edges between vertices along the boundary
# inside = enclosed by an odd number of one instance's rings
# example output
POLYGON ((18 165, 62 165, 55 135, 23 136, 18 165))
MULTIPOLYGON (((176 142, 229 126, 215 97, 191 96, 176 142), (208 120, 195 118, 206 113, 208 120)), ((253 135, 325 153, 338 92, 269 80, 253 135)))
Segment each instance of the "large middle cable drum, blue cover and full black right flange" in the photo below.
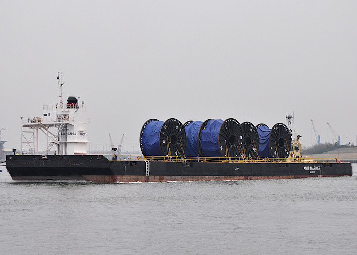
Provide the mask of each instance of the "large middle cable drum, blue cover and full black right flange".
POLYGON ((208 119, 198 132, 199 151, 206 157, 242 157, 243 133, 236 119, 208 119))

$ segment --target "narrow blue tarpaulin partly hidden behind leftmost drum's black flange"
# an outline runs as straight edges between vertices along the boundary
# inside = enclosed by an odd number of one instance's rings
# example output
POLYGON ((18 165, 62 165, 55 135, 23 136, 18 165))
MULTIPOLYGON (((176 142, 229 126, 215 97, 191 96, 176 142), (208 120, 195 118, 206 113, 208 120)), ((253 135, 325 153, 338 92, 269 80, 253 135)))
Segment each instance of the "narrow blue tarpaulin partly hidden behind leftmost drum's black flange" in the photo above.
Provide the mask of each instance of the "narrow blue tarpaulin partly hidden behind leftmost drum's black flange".
POLYGON ((185 126, 186 132, 186 157, 197 157, 199 154, 199 148, 197 143, 197 135, 199 127, 202 125, 202 121, 192 121, 187 126, 185 126))

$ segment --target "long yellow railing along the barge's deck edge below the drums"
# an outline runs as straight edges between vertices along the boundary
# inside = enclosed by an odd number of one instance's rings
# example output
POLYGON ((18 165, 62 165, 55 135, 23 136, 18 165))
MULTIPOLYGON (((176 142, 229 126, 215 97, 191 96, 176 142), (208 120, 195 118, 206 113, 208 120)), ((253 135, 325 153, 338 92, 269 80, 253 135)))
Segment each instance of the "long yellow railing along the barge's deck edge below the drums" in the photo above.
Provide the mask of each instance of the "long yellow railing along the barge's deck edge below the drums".
MULTIPOLYGON (((114 160, 114 154, 105 155, 108 160, 114 160)), ((116 155, 116 160, 123 161, 174 161, 174 162, 245 162, 245 163, 337 163, 338 159, 323 158, 239 158, 239 157, 180 157, 180 156, 143 156, 116 155), (308 160, 307 160, 308 159, 308 160)))

